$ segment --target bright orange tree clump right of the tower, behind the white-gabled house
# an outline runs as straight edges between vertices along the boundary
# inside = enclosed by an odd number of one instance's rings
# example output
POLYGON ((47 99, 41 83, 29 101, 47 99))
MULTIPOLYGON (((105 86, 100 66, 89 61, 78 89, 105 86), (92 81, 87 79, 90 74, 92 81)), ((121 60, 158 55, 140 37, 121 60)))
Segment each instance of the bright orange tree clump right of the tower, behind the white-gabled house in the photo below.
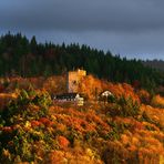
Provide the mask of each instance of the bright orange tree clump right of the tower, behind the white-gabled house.
POLYGON ((112 92, 116 98, 132 98, 133 101, 140 102, 139 95, 134 92, 134 88, 127 83, 111 83, 99 80, 93 75, 86 75, 79 85, 79 92, 85 94, 89 100, 96 100, 98 96, 106 90, 112 92))

